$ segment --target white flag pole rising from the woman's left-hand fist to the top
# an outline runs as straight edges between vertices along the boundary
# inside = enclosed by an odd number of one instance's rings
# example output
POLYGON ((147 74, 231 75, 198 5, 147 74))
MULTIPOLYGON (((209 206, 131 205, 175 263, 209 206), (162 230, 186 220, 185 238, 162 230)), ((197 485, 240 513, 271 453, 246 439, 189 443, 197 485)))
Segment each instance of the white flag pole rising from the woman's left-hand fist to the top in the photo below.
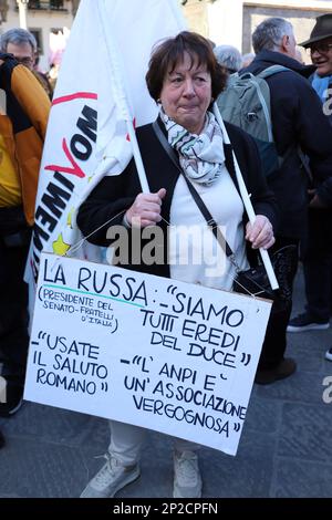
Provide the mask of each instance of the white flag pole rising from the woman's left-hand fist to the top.
POLYGON ((149 187, 148 187, 146 173, 144 169, 144 165, 143 165, 143 160, 142 160, 142 156, 141 156, 137 138, 136 138, 136 133, 134 129, 134 121, 133 121, 134 118, 129 111, 123 72, 122 72, 121 63, 118 61, 118 56, 121 55, 121 52, 117 49, 116 42, 114 41, 114 38, 112 35, 112 28, 106 27, 107 17, 106 17, 106 12, 101 12, 102 10, 101 3, 103 3, 104 6, 104 0, 98 0, 98 3, 97 3, 98 15, 100 15, 100 21, 101 21, 101 27, 103 28, 106 51, 110 56, 110 65, 113 72, 113 77, 112 77, 113 81, 111 81, 110 87, 113 90, 113 95, 120 108, 121 116, 123 121, 126 122, 128 136, 131 139, 131 144, 133 146, 133 155, 134 155, 134 159, 135 159, 136 167, 137 167, 142 191, 144 194, 148 194, 149 187))

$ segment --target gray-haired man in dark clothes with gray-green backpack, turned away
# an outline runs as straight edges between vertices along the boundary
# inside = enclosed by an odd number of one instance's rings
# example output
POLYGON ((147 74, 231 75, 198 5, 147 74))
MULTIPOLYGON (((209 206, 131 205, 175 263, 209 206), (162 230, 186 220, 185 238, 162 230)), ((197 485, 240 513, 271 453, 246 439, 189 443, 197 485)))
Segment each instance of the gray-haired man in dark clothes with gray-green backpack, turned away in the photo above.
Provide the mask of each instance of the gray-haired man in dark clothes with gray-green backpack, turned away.
MULTIPOLYGON (((226 121, 238 124, 257 141, 269 187, 281 209, 273 249, 294 247, 289 266, 293 281, 299 242, 307 233, 308 187, 311 183, 308 160, 317 197, 322 204, 332 201, 332 129, 308 81, 313 67, 304 66, 295 59, 297 42, 291 23, 282 18, 264 20, 255 30, 252 44, 257 55, 238 77, 230 80, 229 92, 220 96, 228 110, 222 106, 220 110, 226 121), (230 105, 236 107, 237 114, 230 113, 230 105)), ((291 304, 278 324, 268 327, 256 383, 273 383, 294 373, 295 362, 283 357, 290 314, 291 304)))

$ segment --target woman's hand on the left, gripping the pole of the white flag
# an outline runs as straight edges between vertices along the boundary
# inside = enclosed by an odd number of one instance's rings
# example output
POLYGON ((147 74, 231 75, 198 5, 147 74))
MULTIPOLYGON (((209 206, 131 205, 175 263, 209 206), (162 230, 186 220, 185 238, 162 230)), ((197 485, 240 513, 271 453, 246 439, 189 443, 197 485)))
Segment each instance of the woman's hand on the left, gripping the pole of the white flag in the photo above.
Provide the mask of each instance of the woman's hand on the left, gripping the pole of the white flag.
POLYGON ((146 228, 155 226, 162 220, 162 202, 166 189, 160 188, 156 194, 139 194, 133 206, 125 212, 125 219, 129 226, 146 228))

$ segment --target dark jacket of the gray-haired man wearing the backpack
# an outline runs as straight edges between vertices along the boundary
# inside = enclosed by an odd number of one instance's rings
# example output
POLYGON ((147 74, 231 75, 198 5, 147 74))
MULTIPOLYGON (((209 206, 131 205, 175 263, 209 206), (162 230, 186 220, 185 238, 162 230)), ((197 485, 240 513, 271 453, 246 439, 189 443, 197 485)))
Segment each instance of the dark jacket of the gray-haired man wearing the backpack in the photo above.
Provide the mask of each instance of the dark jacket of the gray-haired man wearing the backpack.
MULTIPOLYGON (((283 156, 300 145, 310 159, 314 187, 325 204, 332 204, 332 128, 322 113, 319 96, 308 77, 313 67, 272 51, 262 51, 241 72, 258 74, 268 66, 290 69, 267 79, 271 95, 272 131, 278 154, 283 156)), ((305 233, 308 184, 294 152, 268 179, 281 209, 279 236, 300 238, 305 233)))

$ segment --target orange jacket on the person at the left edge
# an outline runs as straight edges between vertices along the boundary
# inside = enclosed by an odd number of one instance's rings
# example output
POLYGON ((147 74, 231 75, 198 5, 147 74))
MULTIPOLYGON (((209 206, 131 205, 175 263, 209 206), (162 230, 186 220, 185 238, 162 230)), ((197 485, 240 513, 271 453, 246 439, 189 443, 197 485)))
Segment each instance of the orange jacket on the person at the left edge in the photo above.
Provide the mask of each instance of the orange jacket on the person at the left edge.
POLYGON ((0 133, 19 171, 24 214, 31 226, 51 103, 34 75, 8 54, 0 54, 0 89, 7 104, 7 115, 0 115, 0 133))

